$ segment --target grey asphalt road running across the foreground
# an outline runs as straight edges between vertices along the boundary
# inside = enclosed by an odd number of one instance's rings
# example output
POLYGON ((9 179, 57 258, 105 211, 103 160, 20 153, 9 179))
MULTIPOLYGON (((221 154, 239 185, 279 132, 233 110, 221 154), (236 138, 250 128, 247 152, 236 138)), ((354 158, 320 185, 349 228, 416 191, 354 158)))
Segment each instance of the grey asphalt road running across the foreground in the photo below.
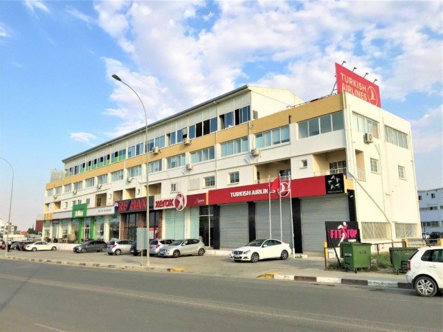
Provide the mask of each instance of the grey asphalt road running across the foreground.
POLYGON ((442 298, 0 261, 1 331, 442 331, 442 298))

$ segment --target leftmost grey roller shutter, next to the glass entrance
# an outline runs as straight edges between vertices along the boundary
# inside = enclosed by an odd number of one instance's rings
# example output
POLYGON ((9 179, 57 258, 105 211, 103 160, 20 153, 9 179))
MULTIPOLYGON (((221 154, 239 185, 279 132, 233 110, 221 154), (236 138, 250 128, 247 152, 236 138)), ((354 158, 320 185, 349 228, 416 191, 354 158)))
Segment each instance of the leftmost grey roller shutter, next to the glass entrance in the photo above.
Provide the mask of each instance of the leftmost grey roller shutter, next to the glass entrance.
POLYGON ((220 247, 238 248, 249 242, 248 204, 220 207, 220 247))

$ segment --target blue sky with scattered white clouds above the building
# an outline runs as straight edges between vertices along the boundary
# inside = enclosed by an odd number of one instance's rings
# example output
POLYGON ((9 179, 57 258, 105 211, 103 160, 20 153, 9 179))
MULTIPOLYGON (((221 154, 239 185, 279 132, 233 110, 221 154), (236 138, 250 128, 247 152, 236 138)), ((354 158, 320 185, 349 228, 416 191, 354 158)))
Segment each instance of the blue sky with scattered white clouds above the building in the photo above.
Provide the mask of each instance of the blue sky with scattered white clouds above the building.
POLYGON ((35 227, 51 169, 145 126, 113 74, 151 123, 244 84, 329 95, 345 61, 410 121, 417 189, 443 187, 442 6, 0 1, 0 219, 35 227))

